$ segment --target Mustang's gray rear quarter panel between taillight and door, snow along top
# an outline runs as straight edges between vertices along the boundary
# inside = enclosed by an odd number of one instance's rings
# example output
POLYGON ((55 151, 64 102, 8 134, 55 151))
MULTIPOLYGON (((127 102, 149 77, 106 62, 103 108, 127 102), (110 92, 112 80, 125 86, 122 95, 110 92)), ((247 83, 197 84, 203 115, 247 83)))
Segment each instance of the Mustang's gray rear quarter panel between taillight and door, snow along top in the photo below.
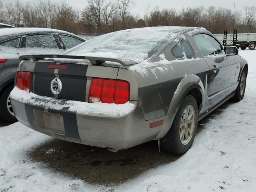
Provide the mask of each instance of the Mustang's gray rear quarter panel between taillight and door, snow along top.
POLYGON ((162 60, 152 63, 151 66, 138 64, 129 69, 136 79, 138 100, 142 102, 144 118, 151 120, 175 114, 180 104, 179 99, 193 84, 197 84, 204 94, 205 76, 209 67, 203 59, 187 59, 171 62, 162 60), (195 74, 200 74, 200 77, 195 74), (174 94, 176 102, 170 105, 174 94))

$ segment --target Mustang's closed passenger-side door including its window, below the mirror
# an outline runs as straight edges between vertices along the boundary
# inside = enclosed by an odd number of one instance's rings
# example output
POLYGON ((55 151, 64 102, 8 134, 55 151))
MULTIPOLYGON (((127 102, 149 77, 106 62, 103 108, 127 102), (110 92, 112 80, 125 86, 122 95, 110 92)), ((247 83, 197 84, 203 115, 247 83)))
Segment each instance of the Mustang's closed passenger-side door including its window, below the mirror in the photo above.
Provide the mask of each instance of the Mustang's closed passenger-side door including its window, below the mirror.
POLYGON ((235 60, 232 56, 226 56, 222 45, 209 34, 196 34, 193 39, 210 68, 208 81, 211 108, 233 91, 236 75, 235 60))

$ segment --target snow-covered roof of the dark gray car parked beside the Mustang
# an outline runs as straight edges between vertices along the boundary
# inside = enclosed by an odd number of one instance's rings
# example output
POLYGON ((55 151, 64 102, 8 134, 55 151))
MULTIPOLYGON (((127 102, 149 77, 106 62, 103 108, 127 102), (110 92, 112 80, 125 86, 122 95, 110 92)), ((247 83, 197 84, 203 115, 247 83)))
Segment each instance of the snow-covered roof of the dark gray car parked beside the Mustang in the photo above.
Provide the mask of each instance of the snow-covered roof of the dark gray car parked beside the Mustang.
MULTIPOLYGON (((59 34, 69 34, 72 36, 76 36, 75 34, 62 31, 62 30, 57 30, 57 29, 48 29, 48 28, 4 28, 0 30, 0 42, 15 38, 17 36, 22 36, 22 35, 28 35, 28 34, 38 34, 38 33, 59 33, 59 34)), ((77 38, 80 38, 76 36, 77 38)))

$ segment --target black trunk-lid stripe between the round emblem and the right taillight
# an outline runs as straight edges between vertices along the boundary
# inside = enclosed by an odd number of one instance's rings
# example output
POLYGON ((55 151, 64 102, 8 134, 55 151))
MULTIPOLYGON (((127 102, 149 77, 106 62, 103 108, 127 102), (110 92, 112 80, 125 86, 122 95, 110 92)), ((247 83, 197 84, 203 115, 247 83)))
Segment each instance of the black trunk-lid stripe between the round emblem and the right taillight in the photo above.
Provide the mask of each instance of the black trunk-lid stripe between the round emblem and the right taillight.
POLYGON ((58 99, 86 100, 87 69, 88 65, 68 64, 68 69, 58 70, 62 82, 62 91, 58 94, 58 99))

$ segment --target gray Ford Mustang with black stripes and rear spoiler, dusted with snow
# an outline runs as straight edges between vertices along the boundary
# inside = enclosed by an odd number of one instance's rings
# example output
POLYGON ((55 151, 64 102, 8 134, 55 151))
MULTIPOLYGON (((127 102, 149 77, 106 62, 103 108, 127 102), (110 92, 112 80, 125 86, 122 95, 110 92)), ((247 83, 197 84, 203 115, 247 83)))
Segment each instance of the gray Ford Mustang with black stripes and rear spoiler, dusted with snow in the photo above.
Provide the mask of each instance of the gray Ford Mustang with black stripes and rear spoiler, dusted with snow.
POLYGON ((191 147, 198 120, 242 100, 248 73, 236 47, 192 27, 123 30, 20 60, 10 98, 26 126, 110 150, 158 140, 175 154, 191 147))

